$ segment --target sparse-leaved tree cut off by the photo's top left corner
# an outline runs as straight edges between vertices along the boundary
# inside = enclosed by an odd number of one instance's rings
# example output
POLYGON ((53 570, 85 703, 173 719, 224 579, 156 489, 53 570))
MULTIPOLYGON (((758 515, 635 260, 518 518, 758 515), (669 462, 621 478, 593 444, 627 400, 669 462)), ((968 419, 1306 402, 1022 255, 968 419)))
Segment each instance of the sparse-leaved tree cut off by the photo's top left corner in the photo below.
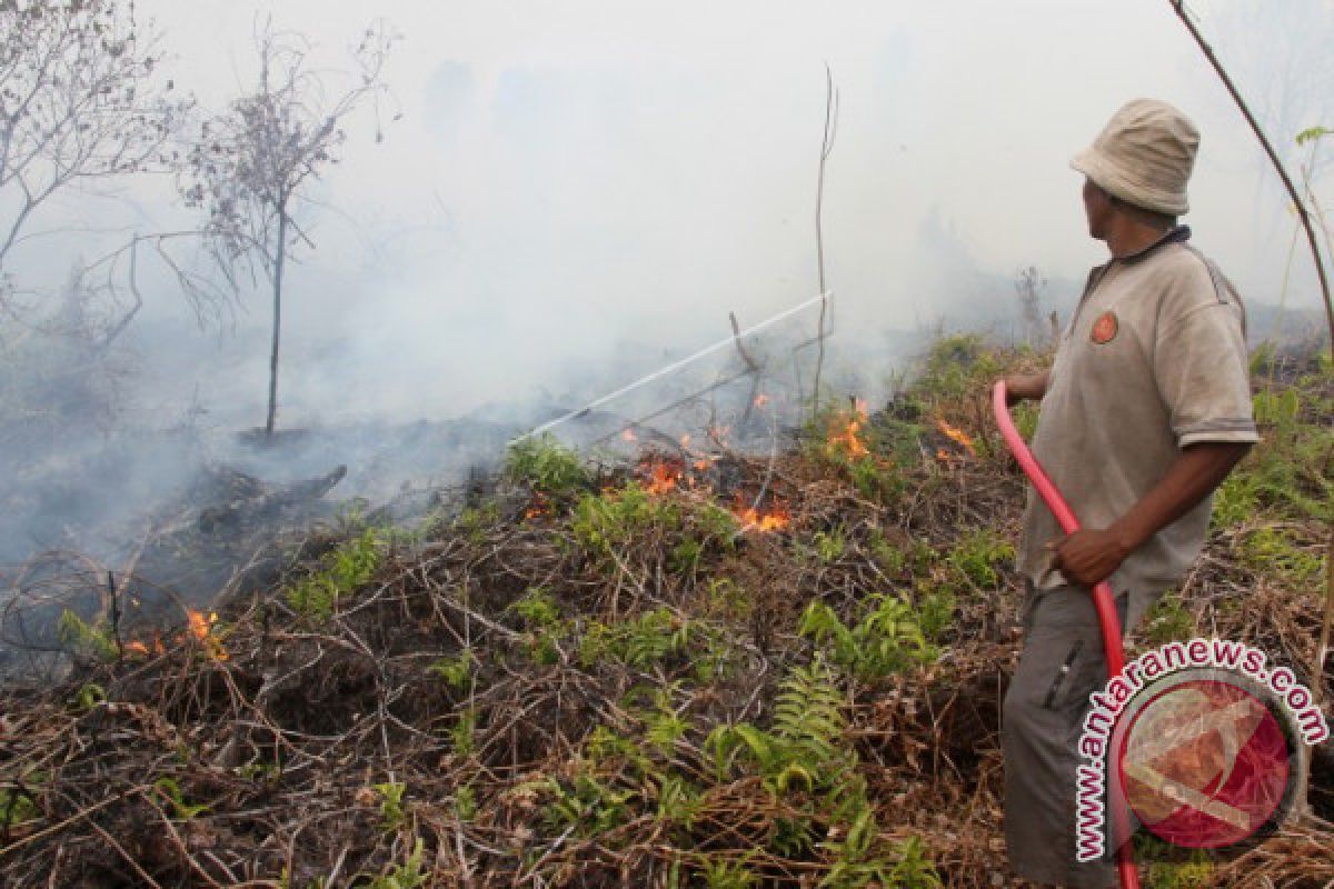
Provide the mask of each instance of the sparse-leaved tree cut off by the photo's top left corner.
POLYGON ((155 44, 117 0, 0 0, 0 299, 52 197, 172 163, 188 103, 159 87, 155 44))

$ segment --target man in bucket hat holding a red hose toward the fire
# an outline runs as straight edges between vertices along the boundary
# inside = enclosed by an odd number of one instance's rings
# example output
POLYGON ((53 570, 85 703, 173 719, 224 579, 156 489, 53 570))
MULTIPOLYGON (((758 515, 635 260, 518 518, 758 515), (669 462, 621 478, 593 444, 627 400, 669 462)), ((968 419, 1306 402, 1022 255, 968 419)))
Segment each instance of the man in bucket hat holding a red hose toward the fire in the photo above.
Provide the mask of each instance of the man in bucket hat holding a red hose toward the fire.
POLYGON ((1091 586, 1111 584, 1129 633, 1194 562, 1213 490, 1258 440, 1241 299, 1177 224, 1198 145, 1185 115, 1139 99, 1071 161, 1111 260, 1090 273, 1051 368, 1006 379, 1011 403, 1042 400, 1033 452, 1083 526, 1065 536, 1030 489, 1002 748, 1010 862, 1039 884, 1117 882, 1110 860, 1075 860, 1075 745, 1107 681, 1091 586))

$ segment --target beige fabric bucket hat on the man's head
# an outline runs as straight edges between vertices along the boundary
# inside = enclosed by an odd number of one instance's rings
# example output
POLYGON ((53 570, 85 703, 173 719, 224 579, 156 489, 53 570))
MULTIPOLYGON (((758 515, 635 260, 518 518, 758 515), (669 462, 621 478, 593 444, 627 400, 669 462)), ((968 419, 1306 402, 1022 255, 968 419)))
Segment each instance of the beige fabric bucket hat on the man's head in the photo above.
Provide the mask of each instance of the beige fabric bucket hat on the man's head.
POLYGON ((1186 115, 1157 99, 1134 99, 1070 165, 1123 201, 1181 216, 1190 209, 1186 181, 1198 148, 1199 131, 1186 115))

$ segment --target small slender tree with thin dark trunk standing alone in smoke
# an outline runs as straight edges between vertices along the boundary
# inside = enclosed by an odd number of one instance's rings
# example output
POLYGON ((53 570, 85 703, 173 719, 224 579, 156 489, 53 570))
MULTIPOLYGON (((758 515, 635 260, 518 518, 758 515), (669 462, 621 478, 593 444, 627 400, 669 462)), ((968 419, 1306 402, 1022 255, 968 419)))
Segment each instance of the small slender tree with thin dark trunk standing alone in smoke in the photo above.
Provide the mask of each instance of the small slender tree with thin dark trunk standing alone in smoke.
POLYGON ((352 53, 355 81, 335 96, 325 75, 309 67, 309 43, 296 33, 265 27, 257 37, 260 72, 253 92, 205 120, 188 155, 185 203, 207 213, 209 255, 235 288, 237 272, 263 273, 272 289, 273 332, 269 353, 265 435, 277 415, 277 365, 283 317, 283 280, 293 248, 315 244, 293 219, 309 180, 338 163, 347 117, 370 100, 376 107, 382 69, 394 37, 372 24, 352 53))

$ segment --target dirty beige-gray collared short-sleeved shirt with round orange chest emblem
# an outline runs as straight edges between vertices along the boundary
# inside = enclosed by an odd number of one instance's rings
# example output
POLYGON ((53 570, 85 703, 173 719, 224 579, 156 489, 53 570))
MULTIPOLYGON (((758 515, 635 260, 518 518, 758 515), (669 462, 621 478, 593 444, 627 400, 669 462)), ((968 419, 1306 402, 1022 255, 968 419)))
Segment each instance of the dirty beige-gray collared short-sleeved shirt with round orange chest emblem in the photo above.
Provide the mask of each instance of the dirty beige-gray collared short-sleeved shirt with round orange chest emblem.
MULTIPOLYGON (((1245 308, 1189 239, 1182 225, 1095 268, 1051 365, 1033 453, 1085 528, 1129 512, 1186 445, 1259 440, 1245 308)), ((1113 589, 1161 592, 1181 580, 1203 548, 1211 508, 1210 496, 1131 553, 1109 578, 1113 589)), ((1061 537, 1030 486, 1018 561, 1038 589, 1066 582, 1043 549, 1061 537)))

